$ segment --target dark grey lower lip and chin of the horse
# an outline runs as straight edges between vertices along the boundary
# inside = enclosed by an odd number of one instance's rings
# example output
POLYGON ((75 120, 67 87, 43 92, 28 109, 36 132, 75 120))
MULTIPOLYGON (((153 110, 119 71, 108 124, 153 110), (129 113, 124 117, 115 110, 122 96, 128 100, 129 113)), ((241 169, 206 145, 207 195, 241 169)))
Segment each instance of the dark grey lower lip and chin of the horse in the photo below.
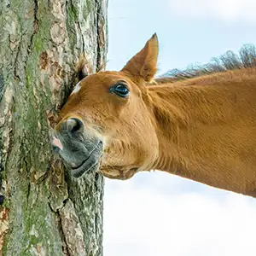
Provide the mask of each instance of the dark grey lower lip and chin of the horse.
POLYGON ((85 173, 96 172, 100 167, 102 159, 102 142, 96 145, 96 148, 90 155, 83 161, 83 163, 75 168, 71 168, 73 177, 82 177, 85 173))

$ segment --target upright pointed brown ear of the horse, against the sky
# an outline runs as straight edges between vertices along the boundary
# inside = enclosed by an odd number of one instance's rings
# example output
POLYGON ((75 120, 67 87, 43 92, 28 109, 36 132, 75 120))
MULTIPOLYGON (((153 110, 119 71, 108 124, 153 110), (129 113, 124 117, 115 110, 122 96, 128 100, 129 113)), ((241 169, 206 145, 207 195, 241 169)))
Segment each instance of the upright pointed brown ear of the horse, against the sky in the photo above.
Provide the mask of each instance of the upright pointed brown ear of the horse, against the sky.
POLYGON ((146 82, 149 82, 153 79, 157 70, 158 52, 158 39, 156 33, 154 33, 144 48, 137 55, 134 55, 121 71, 131 73, 133 76, 142 77, 146 82))

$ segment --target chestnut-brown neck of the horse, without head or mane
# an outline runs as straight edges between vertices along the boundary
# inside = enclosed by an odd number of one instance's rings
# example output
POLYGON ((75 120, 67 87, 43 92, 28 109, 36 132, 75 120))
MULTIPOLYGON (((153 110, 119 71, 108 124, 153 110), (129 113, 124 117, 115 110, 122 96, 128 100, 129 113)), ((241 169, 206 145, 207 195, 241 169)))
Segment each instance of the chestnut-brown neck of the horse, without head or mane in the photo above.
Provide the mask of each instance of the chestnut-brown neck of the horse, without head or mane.
POLYGON ((243 149, 252 146, 244 131, 253 136, 255 128, 250 127, 256 127, 252 119, 256 86, 250 84, 222 81, 148 87, 160 144, 152 169, 252 195, 256 155, 241 159, 243 149))

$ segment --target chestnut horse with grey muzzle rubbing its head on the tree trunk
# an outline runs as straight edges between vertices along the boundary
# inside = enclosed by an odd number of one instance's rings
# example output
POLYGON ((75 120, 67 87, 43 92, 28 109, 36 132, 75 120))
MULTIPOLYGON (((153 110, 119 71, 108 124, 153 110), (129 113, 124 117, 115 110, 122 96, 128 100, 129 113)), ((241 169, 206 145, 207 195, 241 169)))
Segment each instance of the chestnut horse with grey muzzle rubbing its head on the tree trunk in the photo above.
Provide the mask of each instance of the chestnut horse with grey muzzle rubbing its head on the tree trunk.
POLYGON ((73 177, 160 170, 255 197, 254 49, 154 79, 158 52, 154 34, 121 71, 76 85, 53 140, 73 177))

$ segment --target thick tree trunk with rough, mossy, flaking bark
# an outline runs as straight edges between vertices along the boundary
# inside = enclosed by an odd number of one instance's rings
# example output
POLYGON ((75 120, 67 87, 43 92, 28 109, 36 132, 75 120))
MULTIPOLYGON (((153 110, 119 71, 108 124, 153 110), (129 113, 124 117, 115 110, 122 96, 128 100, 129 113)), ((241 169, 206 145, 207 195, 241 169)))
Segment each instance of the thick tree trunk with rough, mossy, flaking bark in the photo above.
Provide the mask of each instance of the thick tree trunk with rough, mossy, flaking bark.
POLYGON ((105 61, 107 6, 1 0, 0 255, 102 255, 103 177, 64 172, 49 117, 73 86, 79 55, 91 73, 105 61))

